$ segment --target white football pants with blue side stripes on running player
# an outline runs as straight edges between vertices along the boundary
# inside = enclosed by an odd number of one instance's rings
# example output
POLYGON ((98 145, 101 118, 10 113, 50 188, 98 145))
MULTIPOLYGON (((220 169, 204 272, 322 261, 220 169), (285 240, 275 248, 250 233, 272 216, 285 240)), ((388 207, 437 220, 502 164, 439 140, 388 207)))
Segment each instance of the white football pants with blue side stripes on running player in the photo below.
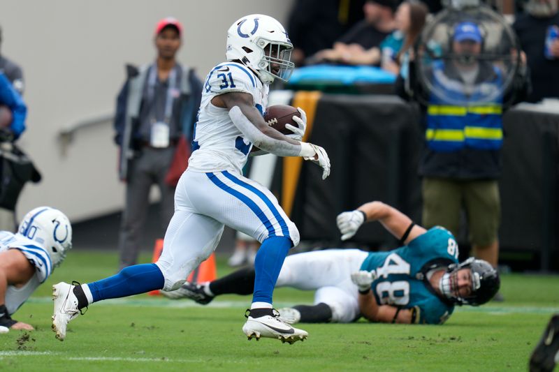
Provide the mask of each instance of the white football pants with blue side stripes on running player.
POLYGON ((299 232, 275 196, 261 184, 233 172, 187 170, 175 191, 175 214, 165 233, 156 265, 165 277, 163 290, 176 290, 206 260, 222 237, 224 225, 262 242, 299 232))

